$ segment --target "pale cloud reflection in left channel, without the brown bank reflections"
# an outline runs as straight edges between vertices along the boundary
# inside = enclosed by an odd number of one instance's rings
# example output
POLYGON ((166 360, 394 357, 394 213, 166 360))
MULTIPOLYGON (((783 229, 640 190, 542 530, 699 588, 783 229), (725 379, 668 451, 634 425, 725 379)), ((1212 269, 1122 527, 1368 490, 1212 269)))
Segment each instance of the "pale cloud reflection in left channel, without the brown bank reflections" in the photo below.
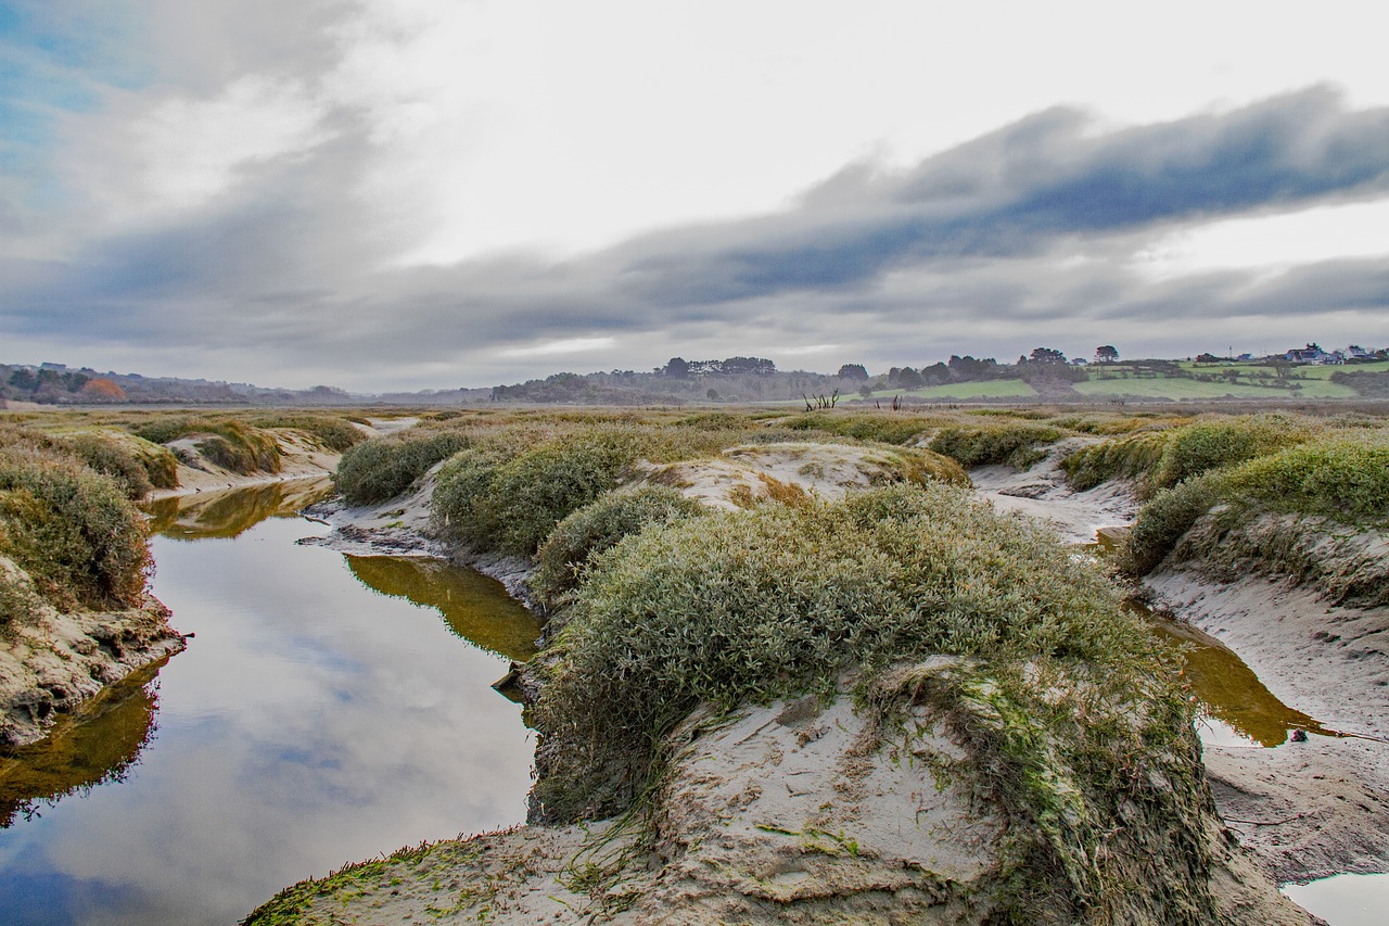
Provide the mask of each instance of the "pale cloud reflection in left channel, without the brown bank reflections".
MULTIPOLYGON (((150 922, 147 901, 228 922, 346 861, 522 819, 533 747, 488 687, 504 660, 293 546, 304 528, 268 521, 236 555, 157 545, 156 592, 197 633, 161 674, 164 736, 135 780, 43 836, 63 875, 147 897, 136 913, 100 893, 75 922, 150 922)), ((85 907, 96 886, 72 890, 85 907)))

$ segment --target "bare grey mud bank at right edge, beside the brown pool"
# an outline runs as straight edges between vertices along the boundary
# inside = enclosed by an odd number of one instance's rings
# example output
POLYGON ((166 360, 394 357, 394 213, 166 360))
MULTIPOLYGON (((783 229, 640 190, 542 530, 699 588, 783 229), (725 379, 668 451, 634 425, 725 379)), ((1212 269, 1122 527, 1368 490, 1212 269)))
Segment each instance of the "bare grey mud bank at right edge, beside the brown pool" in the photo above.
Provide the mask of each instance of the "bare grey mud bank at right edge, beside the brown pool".
POLYGON ((1329 730, 1275 749, 1207 747, 1221 815, 1281 882, 1389 870, 1389 609, 1328 606, 1251 576, 1150 576, 1158 606, 1225 642, 1283 704, 1329 730))

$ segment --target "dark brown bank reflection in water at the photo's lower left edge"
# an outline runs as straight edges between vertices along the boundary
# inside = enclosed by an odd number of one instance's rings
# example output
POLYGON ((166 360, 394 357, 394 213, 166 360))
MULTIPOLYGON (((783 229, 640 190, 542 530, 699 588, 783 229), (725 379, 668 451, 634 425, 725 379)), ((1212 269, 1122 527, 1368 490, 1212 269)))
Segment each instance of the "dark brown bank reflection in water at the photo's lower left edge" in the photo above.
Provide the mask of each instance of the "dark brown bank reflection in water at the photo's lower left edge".
POLYGON ((168 659, 131 673, 82 708, 63 716, 35 744, 0 754, 0 829, 17 816, 32 820, 39 805, 122 781, 154 736, 160 669, 168 659))

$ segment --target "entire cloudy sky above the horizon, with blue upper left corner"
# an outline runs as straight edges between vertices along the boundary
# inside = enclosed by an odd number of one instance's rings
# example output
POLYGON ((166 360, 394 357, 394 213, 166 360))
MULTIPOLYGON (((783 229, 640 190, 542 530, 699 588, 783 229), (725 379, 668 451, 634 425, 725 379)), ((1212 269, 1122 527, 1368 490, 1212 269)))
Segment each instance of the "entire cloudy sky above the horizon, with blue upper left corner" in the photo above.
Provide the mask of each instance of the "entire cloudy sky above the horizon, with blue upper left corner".
POLYGON ((1376 0, 0 0, 0 363, 1389 346, 1376 0))

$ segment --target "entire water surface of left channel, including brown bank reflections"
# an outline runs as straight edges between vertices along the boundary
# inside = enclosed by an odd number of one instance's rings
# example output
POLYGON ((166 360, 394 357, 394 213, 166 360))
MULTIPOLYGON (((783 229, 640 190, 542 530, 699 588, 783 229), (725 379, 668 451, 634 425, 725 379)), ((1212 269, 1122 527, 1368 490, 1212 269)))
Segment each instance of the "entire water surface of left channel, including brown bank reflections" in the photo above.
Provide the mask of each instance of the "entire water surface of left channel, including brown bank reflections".
POLYGON ((533 742, 489 684, 535 622, 474 573, 297 545, 326 533, 285 517, 310 495, 156 510, 154 591, 196 638, 0 761, 0 920, 225 925, 524 818, 533 742))

